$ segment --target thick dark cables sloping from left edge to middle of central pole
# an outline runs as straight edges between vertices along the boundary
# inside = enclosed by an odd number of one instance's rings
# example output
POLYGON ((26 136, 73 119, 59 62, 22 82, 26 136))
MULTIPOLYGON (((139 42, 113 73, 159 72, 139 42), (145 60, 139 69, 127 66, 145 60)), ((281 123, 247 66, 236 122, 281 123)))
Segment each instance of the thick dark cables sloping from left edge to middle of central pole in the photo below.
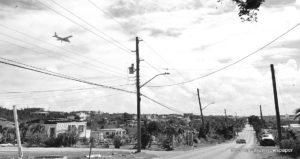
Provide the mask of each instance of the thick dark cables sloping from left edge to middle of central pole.
MULTIPOLYGON (((1 59, 12 62, 12 60, 9 60, 9 59, 5 59, 5 58, 1 58, 1 59)), ((45 69, 41 69, 41 68, 38 68, 38 67, 22 64, 20 62, 17 62, 17 63, 21 64, 23 66, 18 65, 18 64, 13 64, 13 63, 10 63, 10 62, 0 61, 0 63, 6 64, 6 65, 10 65, 10 66, 14 66, 14 67, 18 67, 18 68, 22 68, 22 69, 26 69, 26 70, 30 70, 30 71, 34 71, 34 72, 38 72, 38 73, 42 73, 42 74, 46 74, 46 75, 49 75, 49 76, 59 77, 59 78, 63 78, 63 79, 71 80, 71 81, 76 81, 76 82, 85 83, 85 84, 89 84, 89 85, 99 86, 99 87, 102 87, 102 88, 107 88, 107 89, 112 89, 112 90, 117 90, 117 91, 122 91, 122 92, 126 92, 126 93, 134 93, 135 94, 135 92, 133 92, 133 91, 124 90, 124 89, 120 89, 120 88, 116 88, 116 87, 111 87, 111 86, 106 86, 106 85, 102 85, 102 84, 98 84, 98 83, 93 83, 93 82, 81 80, 81 79, 70 77, 70 76, 67 76, 67 75, 64 75, 64 74, 58 74, 58 73, 54 73, 54 72, 51 72, 51 71, 48 71, 48 70, 45 70, 45 69)))

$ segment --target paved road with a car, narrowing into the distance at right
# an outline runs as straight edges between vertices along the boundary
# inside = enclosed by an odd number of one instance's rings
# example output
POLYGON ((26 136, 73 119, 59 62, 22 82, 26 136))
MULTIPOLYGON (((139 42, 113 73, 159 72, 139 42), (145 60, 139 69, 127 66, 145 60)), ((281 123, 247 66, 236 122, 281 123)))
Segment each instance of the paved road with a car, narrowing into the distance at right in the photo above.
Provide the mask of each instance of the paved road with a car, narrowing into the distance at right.
POLYGON ((258 148, 255 143, 255 132, 253 128, 246 125, 245 129, 239 133, 239 137, 244 138, 246 144, 236 144, 235 141, 232 141, 192 151, 153 153, 162 159, 261 159, 259 153, 253 152, 255 148, 258 148), (237 149, 241 151, 237 151, 237 149), (247 150, 252 152, 245 152, 247 150))

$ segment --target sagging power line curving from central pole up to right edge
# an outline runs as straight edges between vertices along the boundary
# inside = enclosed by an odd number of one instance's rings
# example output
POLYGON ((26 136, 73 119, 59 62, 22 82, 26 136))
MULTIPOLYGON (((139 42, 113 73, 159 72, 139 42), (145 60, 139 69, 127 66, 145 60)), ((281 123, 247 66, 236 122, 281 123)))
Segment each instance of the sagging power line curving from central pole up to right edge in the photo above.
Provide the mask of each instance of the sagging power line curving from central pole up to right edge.
POLYGON ((256 51, 254 51, 254 52, 252 52, 252 53, 250 53, 250 54, 248 54, 248 55, 246 55, 246 56, 244 56, 244 57, 238 59, 237 61, 235 61, 235 62, 233 62, 233 63, 231 63, 231 64, 229 64, 229 65, 226 65, 226 66, 224 66, 224 67, 221 67, 221 68, 219 68, 219 69, 217 69, 217 70, 215 70, 215 71, 213 71, 213 72, 207 73, 206 75, 203 75, 203 76, 200 76, 200 77, 196 77, 196 78, 191 79, 191 80, 188 80, 188 81, 183 81, 183 82, 174 83, 174 84, 169 84, 169 85, 152 86, 152 87, 168 87, 168 86, 182 85, 182 84, 191 83, 191 82, 194 82, 194 81, 196 81, 196 80, 199 80, 199 79, 202 79, 202 78, 211 76, 211 75, 213 75, 213 74, 216 74, 216 73, 218 73, 218 72, 220 72, 220 71, 223 71, 223 70, 227 69, 228 67, 231 67, 231 66, 233 66, 233 65, 235 65, 235 64, 237 64, 237 63, 239 63, 239 62, 241 62, 241 61, 243 61, 243 60, 245 60, 245 59, 247 59, 248 57, 250 57, 250 56, 252 56, 252 55, 258 53, 259 51, 265 49, 267 46, 271 45, 272 43, 274 43, 275 41, 277 41, 278 39, 280 39, 280 38, 283 37, 284 35, 288 34, 288 33, 291 32, 292 30, 294 30, 295 28, 297 28, 299 25, 300 25, 300 23, 297 23, 297 24, 294 25, 292 28, 288 29, 288 30, 285 31, 283 34, 277 36, 275 39, 273 39, 273 40, 270 41, 269 43, 265 44, 264 46, 260 47, 260 48, 257 49, 256 51))

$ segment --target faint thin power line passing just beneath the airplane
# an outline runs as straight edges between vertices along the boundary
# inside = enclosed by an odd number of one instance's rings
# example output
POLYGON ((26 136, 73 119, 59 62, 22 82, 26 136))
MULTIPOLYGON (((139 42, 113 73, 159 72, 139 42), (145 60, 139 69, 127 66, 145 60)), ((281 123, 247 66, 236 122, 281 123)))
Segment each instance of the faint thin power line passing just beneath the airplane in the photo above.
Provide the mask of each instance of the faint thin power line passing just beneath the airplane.
MULTIPOLYGON (((12 29, 12 28, 7 27, 7 26, 2 25, 2 24, 0 24, 0 26, 3 27, 3 28, 5 28, 5 29, 8 29, 8 30, 10 30, 10 31, 17 32, 17 33, 19 33, 19 34, 21 34, 21 35, 24 35, 24 36, 26 36, 26 37, 29 37, 29 38, 31 38, 31 39, 33 39, 33 40, 36 40, 36 41, 41 42, 40 39, 35 38, 35 37, 31 36, 31 35, 28 35, 28 34, 26 34, 26 33, 24 33, 24 32, 18 31, 18 30, 16 30, 16 29, 12 29)), ((21 40, 18 39, 18 41, 21 41, 21 40)), ((23 41, 23 42, 24 42, 24 41, 23 41)), ((89 58, 89 57, 87 57, 87 56, 84 56, 84 55, 82 55, 82 53, 75 52, 75 51, 72 51, 72 50, 68 50, 68 49, 65 49, 65 48, 63 48, 63 47, 58 47, 58 46, 53 45, 53 44, 51 44, 51 43, 49 43, 49 42, 44 42, 44 41, 42 41, 42 42, 45 43, 45 44, 47 44, 47 45, 51 45, 51 46, 53 46, 53 47, 55 47, 55 48, 64 50, 65 52, 70 53, 70 54, 72 54, 72 55, 73 55, 73 54, 76 54, 77 56, 83 57, 83 58, 85 58, 85 59, 92 60, 92 61, 95 61, 95 62, 97 62, 97 63, 101 63, 101 64, 107 66, 108 68, 112 68, 112 67, 113 67, 112 65, 105 64, 104 62, 99 61, 98 59, 93 59, 93 58, 89 58)), ((93 66, 94 66, 94 65, 93 65, 93 66)))

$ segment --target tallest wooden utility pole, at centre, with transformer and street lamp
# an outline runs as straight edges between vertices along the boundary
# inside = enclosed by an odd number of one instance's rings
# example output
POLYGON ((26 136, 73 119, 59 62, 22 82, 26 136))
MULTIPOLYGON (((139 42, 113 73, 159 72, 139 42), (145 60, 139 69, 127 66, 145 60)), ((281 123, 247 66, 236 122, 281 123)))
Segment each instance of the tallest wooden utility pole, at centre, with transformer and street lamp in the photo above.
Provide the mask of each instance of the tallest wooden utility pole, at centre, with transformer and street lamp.
POLYGON ((141 152, 141 92, 140 92, 140 54, 139 37, 135 38, 136 46, 136 98, 137 98, 137 152, 141 152))

